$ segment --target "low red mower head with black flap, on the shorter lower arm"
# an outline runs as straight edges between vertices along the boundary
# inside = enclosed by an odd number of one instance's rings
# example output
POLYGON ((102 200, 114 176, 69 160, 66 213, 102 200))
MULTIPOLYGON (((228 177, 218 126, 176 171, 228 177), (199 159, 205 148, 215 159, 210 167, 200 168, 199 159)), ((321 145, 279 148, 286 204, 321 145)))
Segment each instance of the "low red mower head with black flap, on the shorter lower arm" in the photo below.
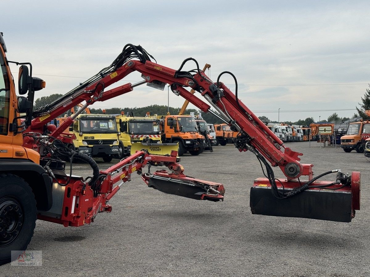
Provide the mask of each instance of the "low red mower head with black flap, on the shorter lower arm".
POLYGON ((196 200, 223 201, 225 188, 222 184, 203 181, 188 176, 169 176, 167 171, 145 175, 148 187, 168 194, 196 200))

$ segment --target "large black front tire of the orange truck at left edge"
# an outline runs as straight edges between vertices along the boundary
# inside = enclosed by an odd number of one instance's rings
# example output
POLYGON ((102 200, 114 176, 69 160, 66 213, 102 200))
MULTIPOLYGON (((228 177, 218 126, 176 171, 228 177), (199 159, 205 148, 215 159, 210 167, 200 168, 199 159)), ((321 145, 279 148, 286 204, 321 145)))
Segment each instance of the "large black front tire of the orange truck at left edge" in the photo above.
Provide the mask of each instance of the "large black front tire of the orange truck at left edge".
POLYGON ((0 175, 0 266, 26 250, 36 225, 36 201, 24 179, 0 175), (11 251, 19 251, 15 254, 11 251), (13 256, 11 256, 13 254, 13 256))

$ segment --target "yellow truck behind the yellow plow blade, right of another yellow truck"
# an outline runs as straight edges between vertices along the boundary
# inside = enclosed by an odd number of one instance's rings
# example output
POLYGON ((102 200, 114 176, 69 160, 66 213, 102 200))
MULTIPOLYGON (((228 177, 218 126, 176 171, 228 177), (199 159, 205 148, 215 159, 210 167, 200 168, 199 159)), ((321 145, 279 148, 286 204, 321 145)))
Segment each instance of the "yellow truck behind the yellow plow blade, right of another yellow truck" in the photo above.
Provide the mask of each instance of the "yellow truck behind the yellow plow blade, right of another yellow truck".
POLYGON ((118 136, 120 156, 130 155, 132 143, 142 142, 144 139, 149 143, 161 143, 161 130, 159 120, 151 117, 133 117, 120 114, 115 116, 120 130, 118 136))

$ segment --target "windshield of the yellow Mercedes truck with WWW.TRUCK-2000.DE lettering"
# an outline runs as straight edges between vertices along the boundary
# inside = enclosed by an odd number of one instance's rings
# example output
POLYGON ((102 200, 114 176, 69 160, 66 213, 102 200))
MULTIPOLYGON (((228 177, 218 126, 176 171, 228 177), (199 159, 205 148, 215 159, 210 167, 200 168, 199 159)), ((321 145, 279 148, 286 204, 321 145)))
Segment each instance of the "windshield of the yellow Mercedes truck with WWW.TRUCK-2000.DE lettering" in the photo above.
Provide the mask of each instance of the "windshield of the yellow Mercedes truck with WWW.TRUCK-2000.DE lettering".
POLYGON ((112 117, 87 116, 80 118, 80 131, 83 133, 117 133, 117 124, 112 117))

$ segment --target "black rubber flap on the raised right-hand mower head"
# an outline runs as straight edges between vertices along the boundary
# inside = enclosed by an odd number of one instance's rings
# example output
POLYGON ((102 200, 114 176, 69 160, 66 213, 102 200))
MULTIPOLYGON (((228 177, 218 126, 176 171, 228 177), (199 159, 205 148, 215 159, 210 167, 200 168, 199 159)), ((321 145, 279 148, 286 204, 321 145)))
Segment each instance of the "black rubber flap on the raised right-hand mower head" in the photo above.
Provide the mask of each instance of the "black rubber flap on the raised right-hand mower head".
POLYGON ((250 188, 250 209, 256 215, 350 222, 350 192, 307 190, 287 199, 272 195, 270 187, 250 188))

